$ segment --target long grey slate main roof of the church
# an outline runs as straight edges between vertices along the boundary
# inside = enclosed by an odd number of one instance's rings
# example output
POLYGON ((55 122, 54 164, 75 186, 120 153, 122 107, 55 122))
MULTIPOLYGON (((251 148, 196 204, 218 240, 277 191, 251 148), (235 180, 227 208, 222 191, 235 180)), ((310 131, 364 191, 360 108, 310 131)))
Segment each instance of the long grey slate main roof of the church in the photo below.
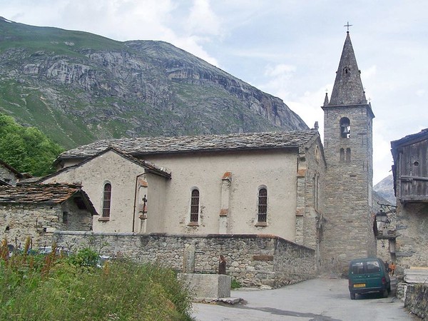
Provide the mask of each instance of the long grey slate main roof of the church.
POLYGON ((315 130, 228 135, 121 138, 97 141, 62 153, 58 159, 88 158, 106 148, 118 148, 132 156, 196 151, 245 151, 253 149, 299 148, 317 135, 315 130))

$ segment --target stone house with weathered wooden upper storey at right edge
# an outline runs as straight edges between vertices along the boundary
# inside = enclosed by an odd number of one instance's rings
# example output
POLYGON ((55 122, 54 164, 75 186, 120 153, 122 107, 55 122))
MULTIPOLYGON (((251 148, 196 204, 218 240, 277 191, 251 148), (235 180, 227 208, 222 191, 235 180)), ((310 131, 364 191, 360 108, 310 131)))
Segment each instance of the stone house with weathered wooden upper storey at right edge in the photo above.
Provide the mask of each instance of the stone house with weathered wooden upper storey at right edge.
POLYGON ((428 128, 391 142, 397 197, 397 273, 428 266, 428 128))

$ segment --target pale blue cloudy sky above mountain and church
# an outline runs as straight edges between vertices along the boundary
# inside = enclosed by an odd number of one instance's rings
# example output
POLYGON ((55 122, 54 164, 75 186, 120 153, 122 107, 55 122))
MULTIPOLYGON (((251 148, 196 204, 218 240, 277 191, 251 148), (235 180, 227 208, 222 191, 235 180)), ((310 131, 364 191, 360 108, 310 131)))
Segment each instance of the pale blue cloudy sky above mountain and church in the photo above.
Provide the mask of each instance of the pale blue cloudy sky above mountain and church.
POLYGON ((348 23, 373 120, 373 183, 390 142, 428 128, 427 0, 0 0, 0 16, 118 41, 161 40, 277 96, 322 135, 348 23))

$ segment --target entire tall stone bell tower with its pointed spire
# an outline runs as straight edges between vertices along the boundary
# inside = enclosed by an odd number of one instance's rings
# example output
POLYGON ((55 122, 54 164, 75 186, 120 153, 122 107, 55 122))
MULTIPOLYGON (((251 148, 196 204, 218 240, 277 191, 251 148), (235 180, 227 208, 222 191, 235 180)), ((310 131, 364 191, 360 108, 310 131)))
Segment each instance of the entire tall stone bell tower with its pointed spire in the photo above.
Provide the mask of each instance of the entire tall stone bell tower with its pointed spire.
POLYGON ((330 101, 324 106, 327 173, 320 271, 341 273, 352 258, 376 254, 372 228, 372 106, 347 31, 330 101))

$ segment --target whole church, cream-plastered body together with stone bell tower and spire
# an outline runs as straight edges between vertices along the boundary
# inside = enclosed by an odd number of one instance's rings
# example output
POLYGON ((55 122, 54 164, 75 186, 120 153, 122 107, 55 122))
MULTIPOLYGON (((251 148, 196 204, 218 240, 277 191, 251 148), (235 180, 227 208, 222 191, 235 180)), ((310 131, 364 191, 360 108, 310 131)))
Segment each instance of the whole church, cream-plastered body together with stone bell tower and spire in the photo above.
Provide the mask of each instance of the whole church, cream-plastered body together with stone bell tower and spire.
MULTIPOLYGON (((323 144, 317 126, 307 131, 98 141, 61 154, 58 171, 39 183, 82 185, 100 214, 93 218, 88 238, 116 235, 127 240, 163 233, 183 237, 195 248, 196 238, 247 235, 260 253, 236 263, 234 268, 242 265, 244 270, 253 263, 263 270, 258 260, 277 264, 279 246, 270 253, 258 241, 277 238, 315 253, 313 265, 309 263, 314 270, 340 273, 352 258, 376 254, 371 209, 374 114, 349 33, 332 96, 329 100, 326 95, 322 109, 323 144)), ((222 240, 216 244, 226 251, 222 240)), ((294 249, 293 260, 300 253, 294 249)), ((239 248, 234 250, 239 253, 239 248)), ((287 263, 272 265, 272 271, 290 270, 287 255, 281 257, 287 263)))

